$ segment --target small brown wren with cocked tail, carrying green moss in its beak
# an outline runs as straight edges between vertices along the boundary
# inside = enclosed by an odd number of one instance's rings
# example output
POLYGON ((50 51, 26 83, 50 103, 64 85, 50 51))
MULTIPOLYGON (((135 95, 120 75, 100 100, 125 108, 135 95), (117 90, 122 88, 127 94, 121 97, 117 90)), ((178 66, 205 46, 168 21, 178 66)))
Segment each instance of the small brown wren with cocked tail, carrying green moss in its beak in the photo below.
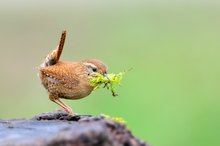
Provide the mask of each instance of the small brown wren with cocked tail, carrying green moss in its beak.
POLYGON ((57 48, 48 54, 40 65, 39 77, 49 93, 49 99, 60 105, 66 112, 74 114, 60 98, 75 100, 88 96, 94 89, 89 84, 90 77, 96 74, 107 77, 108 68, 97 59, 79 62, 59 61, 65 38, 66 31, 63 31, 57 48))

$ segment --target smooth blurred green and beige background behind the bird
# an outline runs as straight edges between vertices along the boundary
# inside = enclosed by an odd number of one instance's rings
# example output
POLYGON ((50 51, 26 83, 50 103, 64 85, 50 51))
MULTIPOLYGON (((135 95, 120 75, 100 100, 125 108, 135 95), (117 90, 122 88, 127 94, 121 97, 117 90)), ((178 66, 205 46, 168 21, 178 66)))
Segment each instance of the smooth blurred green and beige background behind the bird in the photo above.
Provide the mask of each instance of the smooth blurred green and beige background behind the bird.
POLYGON ((119 96, 66 101, 81 114, 123 117, 153 146, 219 146, 220 2, 0 1, 0 118, 53 111, 37 67, 62 30, 62 60, 98 58, 126 74, 119 96))

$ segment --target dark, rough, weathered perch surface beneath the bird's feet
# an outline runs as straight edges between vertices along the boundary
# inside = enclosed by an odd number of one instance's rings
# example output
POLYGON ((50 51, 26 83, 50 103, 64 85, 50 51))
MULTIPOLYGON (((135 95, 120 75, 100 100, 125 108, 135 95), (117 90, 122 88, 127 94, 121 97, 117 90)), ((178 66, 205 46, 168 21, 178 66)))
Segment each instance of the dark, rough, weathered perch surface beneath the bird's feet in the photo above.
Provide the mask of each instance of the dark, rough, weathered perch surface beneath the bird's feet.
POLYGON ((0 120, 0 146, 147 146, 122 124, 103 116, 44 113, 0 120))

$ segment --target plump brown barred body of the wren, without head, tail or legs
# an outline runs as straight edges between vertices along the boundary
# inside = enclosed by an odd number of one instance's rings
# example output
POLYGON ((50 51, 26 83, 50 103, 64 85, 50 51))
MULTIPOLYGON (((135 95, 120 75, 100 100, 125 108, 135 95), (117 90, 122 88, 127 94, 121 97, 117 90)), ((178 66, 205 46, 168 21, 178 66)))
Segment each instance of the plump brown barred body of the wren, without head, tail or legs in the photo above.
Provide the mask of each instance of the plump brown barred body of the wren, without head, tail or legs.
POLYGON ((48 92, 60 98, 83 98, 93 90, 88 81, 87 67, 80 62, 58 62, 41 68, 40 78, 48 92))

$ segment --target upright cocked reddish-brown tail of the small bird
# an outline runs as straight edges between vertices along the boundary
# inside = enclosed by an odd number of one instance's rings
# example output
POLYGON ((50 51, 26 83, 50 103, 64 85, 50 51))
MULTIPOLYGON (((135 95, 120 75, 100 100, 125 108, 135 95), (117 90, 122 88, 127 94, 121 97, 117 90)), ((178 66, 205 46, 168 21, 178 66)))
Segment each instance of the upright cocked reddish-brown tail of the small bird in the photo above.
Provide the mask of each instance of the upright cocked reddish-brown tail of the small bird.
POLYGON ((65 39, 66 39, 66 31, 63 31, 61 38, 60 38, 59 45, 57 46, 55 50, 53 50, 50 54, 47 55, 47 57, 45 58, 44 62, 41 64, 40 67, 51 66, 51 65, 56 64, 59 61, 61 53, 63 51, 65 39))

